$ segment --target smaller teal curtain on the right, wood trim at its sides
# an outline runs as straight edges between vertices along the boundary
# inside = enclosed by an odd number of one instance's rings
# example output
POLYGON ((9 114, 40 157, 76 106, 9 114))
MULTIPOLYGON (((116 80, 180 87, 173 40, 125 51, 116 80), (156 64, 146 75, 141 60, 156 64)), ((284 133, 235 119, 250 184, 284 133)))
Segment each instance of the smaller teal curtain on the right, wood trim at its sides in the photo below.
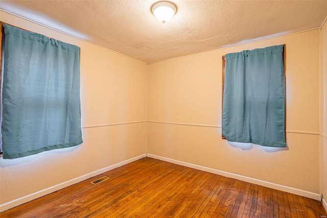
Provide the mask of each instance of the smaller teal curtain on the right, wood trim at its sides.
POLYGON ((283 49, 225 55, 222 134, 228 141, 286 147, 283 49))

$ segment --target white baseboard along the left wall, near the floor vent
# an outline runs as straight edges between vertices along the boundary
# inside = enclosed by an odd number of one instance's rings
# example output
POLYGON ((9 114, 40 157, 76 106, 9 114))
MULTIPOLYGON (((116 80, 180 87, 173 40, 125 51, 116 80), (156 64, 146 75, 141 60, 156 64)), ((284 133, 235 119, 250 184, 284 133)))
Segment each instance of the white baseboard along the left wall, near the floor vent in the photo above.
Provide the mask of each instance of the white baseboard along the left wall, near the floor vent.
POLYGON ((8 210, 8 209, 13 208, 13 207, 16 207, 18 205, 27 203, 27 202, 32 201, 34 199, 40 198, 40 197, 42 197, 42 196, 44 196, 46 194, 50 194, 50 193, 58 191, 58 190, 60 190, 62 188, 65 188, 65 187, 68 187, 70 185, 74 185, 76 183, 79 183, 79 182, 81 182, 83 180, 89 179, 91 177, 95 177, 95 176, 97 176, 97 175, 99 175, 99 174, 101 174, 103 172, 109 171, 111 169, 123 166, 125 164, 131 163, 133 161, 137 161, 137 160, 145 158, 145 157, 147 157, 147 154, 140 155, 140 156, 137 156, 135 158, 131 158, 131 159, 128 159, 126 161, 116 163, 116 164, 113 164, 111 166, 104 167, 102 169, 96 170, 94 172, 87 173, 87 174, 85 174, 83 176, 80 176, 80 177, 77 177, 75 179, 60 183, 58 185, 55 185, 55 186, 52 186, 52 187, 37 191, 35 193, 26 195, 26 196, 24 196, 22 198, 7 202, 5 204, 0 205, 0 212, 8 210))

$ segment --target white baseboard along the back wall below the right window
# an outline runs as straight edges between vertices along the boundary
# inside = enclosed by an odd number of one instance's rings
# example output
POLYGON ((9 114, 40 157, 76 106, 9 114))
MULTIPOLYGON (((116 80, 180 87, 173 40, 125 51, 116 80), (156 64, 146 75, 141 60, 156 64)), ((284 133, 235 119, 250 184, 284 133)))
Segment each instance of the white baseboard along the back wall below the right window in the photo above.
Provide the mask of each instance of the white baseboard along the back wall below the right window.
MULTIPOLYGON (((170 163, 174 163, 174 164, 178 164, 178 165, 181 165, 181 166, 190 167, 190 168, 193 168, 193 169, 199 169, 199 170, 202 170, 202 171, 215 173, 215 174, 220 175, 220 176, 224 176, 224 177, 228 177, 228 178, 232 178, 232 179, 237 179, 237 180, 241 180, 241 181, 244 181, 244 182, 253 183, 253 184, 256 184, 256 185, 261 185, 261 186, 265 186, 265 187, 268 187, 268 188, 277 189, 277 190, 280 190, 280 191, 286 191, 286 192, 289 192, 289 193, 292 193, 292 194, 297 194, 297 195, 301 195, 303 197, 307 197, 307 198, 311 198, 311 199, 321 201, 321 195, 313 193, 313 192, 309 192, 309 191, 305 191, 305 190, 301 190, 301 189, 297 189, 297 188, 292 188, 292 187, 288 187, 288 186, 284 186, 284 185, 279 185, 279 184, 275 184, 275 183, 271 183, 271 182, 267 182, 267 181, 263 181, 263 180, 257 180, 257 179, 253 179, 253 178, 250 178, 250 177, 244 177, 244 176, 241 176, 241 175, 237 175, 235 173, 225 172, 225 171, 218 170, 218 169, 208 168, 208 167, 205 167, 205 166, 199 166, 199 165, 186 163, 186 162, 182 162, 182 161, 177 161, 177 160, 173 160, 173 159, 165 158, 165 157, 160 157, 160 156, 156 156, 156 155, 148 154, 147 157, 162 160, 162 161, 166 161, 166 162, 170 162, 170 163)), ((326 204, 325 204, 325 208, 326 208, 326 204)))

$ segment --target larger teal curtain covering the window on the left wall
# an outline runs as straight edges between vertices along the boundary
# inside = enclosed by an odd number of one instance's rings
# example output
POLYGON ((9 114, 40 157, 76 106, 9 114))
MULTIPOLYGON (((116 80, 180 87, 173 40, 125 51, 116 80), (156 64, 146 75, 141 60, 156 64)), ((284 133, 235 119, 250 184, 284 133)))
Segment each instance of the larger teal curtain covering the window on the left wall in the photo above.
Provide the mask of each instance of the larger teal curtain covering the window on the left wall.
POLYGON ((3 26, 3 158, 81 144, 79 47, 3 26))

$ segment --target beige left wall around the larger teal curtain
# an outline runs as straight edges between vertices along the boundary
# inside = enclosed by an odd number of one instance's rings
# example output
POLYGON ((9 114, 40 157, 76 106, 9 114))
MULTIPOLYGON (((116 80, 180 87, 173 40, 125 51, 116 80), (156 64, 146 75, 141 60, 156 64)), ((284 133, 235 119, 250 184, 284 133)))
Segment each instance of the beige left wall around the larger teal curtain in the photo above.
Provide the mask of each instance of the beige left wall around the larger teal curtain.
POLYGON ((5 23, 81 48, 84 140, 73 148, 1 158, 0 205, 147 152, 147 64, 2 11, 0 15, 5 23), (110 125, 127 122, 137 123, 110 125))

